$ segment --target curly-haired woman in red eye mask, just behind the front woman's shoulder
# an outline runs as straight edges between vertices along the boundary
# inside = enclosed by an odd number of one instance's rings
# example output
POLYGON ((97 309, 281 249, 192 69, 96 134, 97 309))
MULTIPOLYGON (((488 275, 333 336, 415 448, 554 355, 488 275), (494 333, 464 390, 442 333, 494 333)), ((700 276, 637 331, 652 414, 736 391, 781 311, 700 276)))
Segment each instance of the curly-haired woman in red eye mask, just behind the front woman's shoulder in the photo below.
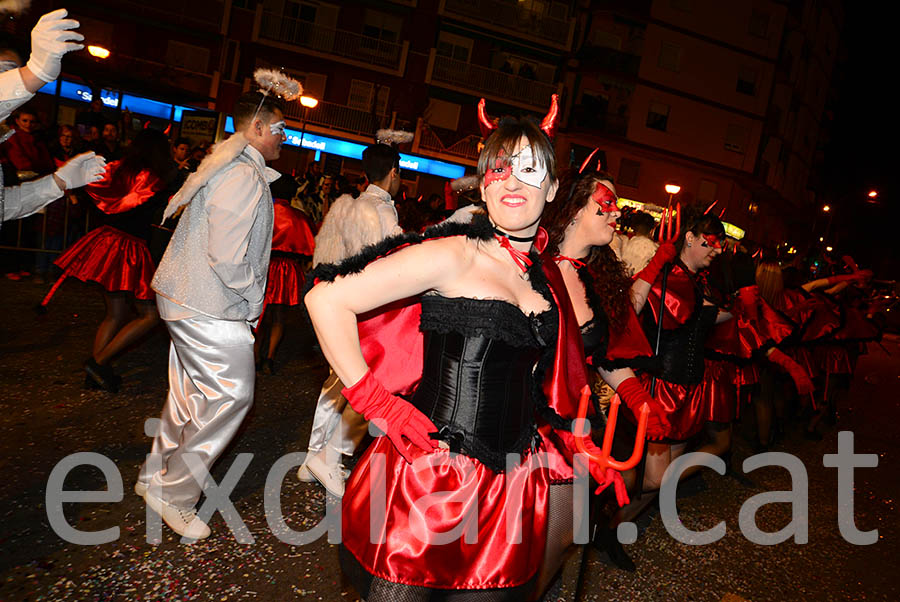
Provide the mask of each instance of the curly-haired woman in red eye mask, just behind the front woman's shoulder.
MULTIPOLYGON (((593 154, 568 179, 560 198, 544 212, 541 223, 549 235, 544 259, 545 263, 558 265, 564 283, 561 288, 571 301, 578 329, 573 336, 580 337, 590 368, 637 416, 644 403, 652 406, 654 400, 635 377, 633 369, 653 365, 653 352, 631 303, 631 279, 625 274, 624 264, 609 247, 620 215, 613 179, 599 169, 593 169, 592 157, 593 154)), ((665 421, 664 412, 651 411, 647 435, 654 439, 665 436, 665 421)), ((602 417, 596 416, 595 422, 602 424, 602 417)), ((620 435, 624 432, 617 428, 614 449, 622 447, 618 444, 628 439, 628 435, 620 435)), ((631 429, 631 441, 627 441, 629 450, 634 435, 631 429)), ((623 474, 630 487, 635 484, 635 473, 629 470, 623 474)), ((571 487, 571 481, 562 484, 571 487)), ((627 502, 624 498, 619 501, 627 502)), ((548 538, 547 571, 559 566, 563 552, 572 543, 572 517, 560 518, 568 518, 569 522, 564 528, 556 529, 560 533, 558 537, 548 538)), ((551 525, 552 521, 551 518, 551 525)), ((609 525, 603 526, 599 539, 617 566, 634 570, 634 563, 609 525)))

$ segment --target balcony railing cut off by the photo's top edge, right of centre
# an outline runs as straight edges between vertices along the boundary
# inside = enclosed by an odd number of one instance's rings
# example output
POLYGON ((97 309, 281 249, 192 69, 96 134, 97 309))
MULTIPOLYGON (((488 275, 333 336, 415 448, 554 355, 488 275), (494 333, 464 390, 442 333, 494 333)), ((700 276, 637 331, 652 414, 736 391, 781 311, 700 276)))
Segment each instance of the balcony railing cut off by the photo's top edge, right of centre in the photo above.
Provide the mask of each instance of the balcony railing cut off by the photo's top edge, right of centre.
MULTIPOLYGON (((444 0, 444 11, 463 21, 510 29, 568 49, 574 19, 557 19, 519 6, 514 0, 444 0)), ((515 35, 515 33, 513 34, 515 35)))

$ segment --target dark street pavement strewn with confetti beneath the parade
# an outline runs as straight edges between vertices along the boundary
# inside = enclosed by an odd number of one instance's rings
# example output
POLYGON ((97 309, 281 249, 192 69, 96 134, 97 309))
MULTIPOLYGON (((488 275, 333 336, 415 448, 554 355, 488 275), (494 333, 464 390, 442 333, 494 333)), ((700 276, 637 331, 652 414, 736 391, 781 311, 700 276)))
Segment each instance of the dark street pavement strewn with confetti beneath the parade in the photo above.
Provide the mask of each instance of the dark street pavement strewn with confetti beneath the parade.
MULTIPOLYGON (((357 600, 342 578, 337 547, 325 536, 306 545, 283 543, 266 521, 264 491, 270 468, 285 454, 305 451, 312 413, 327 365, 314 348, 305 318, 289 317, 273 376, 260 376, 256 402, 244 427, 217 464, 221 482, 239 454, 252 454, 230 495, 253 543, 239 543, 220 515, 210 538, 182 544, 166 527, 162 542, 146 541, 143 501, 132 492, 138 467, 149 451, 144 422, 159 415, 166 394, 168 341, 164 330, 119 359, 123 375, 116 394, 84 388, 81 370, 103 315, 99 292, 67 282, 50 311, 33 311, 47 286, 0 279, 6 319, 0 325, 0 601, 31 600, 357 600), (51 527, 47 484, 57 464, 79 452, 102 454, 121 475, 117 501, 68 503, 68 523, 83 531, 118 528, 101 545, 68 543, 51 527)), ((900 344, 873 345, 859 364, 838 426, 821 442, 799 436, 794 425, 773 451, 800 458, 809 477, 809 542, 763 546, 741 534, 738 515, 751 496, 791 489, 779 467, 748 476, 748 488, 726 476, 704 473, 707 488, 678 501, 681 523, 695 530, 724 520, 726 535, 705 546, 679 543, 659 516, 637 543, 626 546, 638 564, 625 573, 587 551, 582 600, 719 601, 897 600, 897 479, 900 344), (890 353, 890 355, 888 355, 890 353), (877 468, 857 468, 855 524, 877 529, 877 543, 846 542, 838 527, 837 470, 823 455, 837 451, 838 430, 852 431, 856 453, 877 454, 877 468)), ((750 454, 752 413, 737 427, 735 460, 750 454)), ((325 515, 326 496, 300 483, 288 470, 280 500, 285 526, 306 531, 325 515)), ((82 466, 65 476, 66 490, 104 490, 99 469, 82 466)), ((273 486, 277 491, 277 483, 273 486)), ((789 504, 763 506, 756 517, 774 532, 791 520, 789 504)), ((567 566, 561 600, 571 600, 581 551, 567 566)))

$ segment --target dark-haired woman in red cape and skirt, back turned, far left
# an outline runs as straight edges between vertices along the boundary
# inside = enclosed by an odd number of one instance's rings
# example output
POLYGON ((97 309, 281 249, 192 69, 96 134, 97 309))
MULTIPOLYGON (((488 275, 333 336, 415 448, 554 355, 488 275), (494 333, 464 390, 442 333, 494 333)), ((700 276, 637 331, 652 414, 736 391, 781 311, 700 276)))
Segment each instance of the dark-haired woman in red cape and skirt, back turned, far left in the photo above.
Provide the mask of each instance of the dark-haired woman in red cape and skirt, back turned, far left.
POLYGON ((69 247, 56 265, 63 274, 43 305, 67 277, 96 282, 103 288, 106 316, 97 328, 91 357, 84 365, 85 383, 118 390, 121 378, 112 360, 140 340, 159 321, 150 289, 156 265, 147 240, 154 216, 165 206, 168 183, 175 174, 169 141, 156 130, 142 130, 124 158, 107 166, 105 177, 85 187, 106 223, 69 247), (134 302, 137 317, 130 319, 134 302))

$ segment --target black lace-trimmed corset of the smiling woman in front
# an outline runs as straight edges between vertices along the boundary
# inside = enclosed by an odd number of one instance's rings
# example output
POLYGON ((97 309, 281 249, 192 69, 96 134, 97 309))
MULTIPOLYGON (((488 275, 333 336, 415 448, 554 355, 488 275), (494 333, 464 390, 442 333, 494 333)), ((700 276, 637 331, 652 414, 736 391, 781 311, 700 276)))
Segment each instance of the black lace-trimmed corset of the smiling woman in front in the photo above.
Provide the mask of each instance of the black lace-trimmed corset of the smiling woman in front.
POLYGON ((423 297, 424 367, 411 401, 451 451, 499 472, 507 453, 536 443, 532 372, 555 342, 545 317, 505 301, 423 297))

